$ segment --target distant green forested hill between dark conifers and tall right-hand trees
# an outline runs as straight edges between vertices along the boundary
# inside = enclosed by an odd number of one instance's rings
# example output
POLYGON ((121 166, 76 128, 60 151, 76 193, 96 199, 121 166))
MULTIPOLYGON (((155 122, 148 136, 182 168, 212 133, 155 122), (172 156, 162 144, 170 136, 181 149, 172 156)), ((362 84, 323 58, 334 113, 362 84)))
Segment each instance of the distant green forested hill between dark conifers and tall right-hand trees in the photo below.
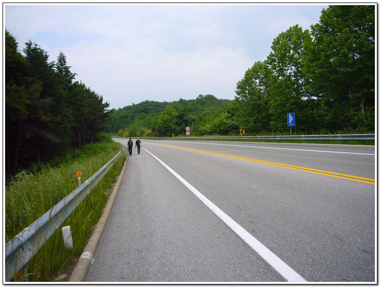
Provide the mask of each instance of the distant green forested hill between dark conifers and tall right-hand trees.
POLYGON ((213 95, 199 95, 196 99, 179 99, 168 103, 145 100, 113 110, 106 132, 118 136, 172 136, 185 134, 187 126, 193 126, 194 135, 204 134, 204 127, 224 112, 228 99, 213 95))

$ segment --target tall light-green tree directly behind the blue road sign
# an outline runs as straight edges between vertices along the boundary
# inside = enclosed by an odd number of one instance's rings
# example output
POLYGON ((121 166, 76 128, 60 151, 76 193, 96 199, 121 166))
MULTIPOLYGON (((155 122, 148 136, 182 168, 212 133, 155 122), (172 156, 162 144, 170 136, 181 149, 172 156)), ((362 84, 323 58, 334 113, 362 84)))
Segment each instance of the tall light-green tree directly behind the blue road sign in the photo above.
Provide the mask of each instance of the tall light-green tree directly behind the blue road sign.
POLYGON ((270 126, 273 131, 282 131, 286 126, 286 115, 295 112, 298 128, 311 129, 312 124, 307 116, 313 109, 308 101, 313 95, 306 89, 308 77, 303 71, 302 57, 305 54, 305 43, 310 42, 309 30, 303 31, 295 25, 286 32, 280 33, 273 41, 272 52, 265 61, 272 71, 270 79, 270 126))

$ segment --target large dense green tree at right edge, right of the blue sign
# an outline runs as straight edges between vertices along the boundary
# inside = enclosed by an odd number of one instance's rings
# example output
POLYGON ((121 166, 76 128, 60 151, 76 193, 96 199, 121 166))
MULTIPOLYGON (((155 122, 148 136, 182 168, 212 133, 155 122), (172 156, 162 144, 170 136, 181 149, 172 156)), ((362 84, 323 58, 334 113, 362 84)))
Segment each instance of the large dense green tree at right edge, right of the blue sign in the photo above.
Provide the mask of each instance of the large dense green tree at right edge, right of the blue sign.
POLYGON ((374 130, 375 6, 329 6, 311 33, 305 68, 318 120, 332 129, 374 130))

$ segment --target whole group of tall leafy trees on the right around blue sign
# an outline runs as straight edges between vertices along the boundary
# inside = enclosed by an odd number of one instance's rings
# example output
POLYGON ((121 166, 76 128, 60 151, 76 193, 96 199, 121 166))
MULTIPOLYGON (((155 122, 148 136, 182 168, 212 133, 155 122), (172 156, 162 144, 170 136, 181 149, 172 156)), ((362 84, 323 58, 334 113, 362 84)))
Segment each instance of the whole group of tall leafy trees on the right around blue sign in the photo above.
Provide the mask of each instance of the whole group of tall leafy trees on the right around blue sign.
POLYGON ((374 132, 374 39, 373 5, 322 10, 311 33, 295 25, 274 39, 267 60, 238 82, 229 112, 256 134, 289 130, 288 112, 296 132, 374 132))

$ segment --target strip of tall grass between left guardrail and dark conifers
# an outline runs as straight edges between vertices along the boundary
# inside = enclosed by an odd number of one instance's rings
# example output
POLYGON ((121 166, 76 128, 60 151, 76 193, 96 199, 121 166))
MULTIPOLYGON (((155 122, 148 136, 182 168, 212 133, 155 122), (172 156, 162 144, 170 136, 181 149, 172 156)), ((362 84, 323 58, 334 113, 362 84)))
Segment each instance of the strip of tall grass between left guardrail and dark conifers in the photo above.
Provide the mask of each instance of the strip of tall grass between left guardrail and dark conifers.
POLYGON ((7 239, 29 226, 77 188, 77 171, 82 172, 82 181, 86 180, 110 159, 111 153, 115 155, 118 150, 119 145, 113 141, 91 143, 72 151, 70 155, 66 154, 61 160, 47 162, 43 169, 23 170, 16 174, 15 180, 5 189, 7 239), (67 157, 70 159, 67 160, 67 157), (57 166, 59 161, 61 164, 57 166), (27 212, 24 213, 24 210, 27 212), (29 216, 28 210, 33 211, 33 215, 29 216))

